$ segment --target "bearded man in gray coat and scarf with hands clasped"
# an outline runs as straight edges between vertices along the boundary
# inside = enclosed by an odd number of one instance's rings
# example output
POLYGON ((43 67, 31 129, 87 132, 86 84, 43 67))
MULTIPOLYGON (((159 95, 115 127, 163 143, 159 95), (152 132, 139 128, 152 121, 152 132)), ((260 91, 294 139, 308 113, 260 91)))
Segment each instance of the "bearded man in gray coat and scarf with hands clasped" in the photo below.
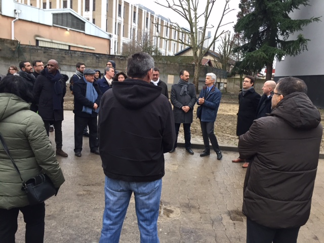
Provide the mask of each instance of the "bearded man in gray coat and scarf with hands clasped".
MULTIPOLYGON (((194 85, 189 83, 189 72, 182 70, 180 71, 178 84, 173 85, 171 88, 171 103, 173 105, 177 140, 180 125, 183 123, 185 148, 189 154, 193 154, 193 151, 190 148, 190 125, 192 123, 193 106, 196 101, 196 90, 194 85)), ((170 153, 173 153, 176 150, 177 140, 170 153)))

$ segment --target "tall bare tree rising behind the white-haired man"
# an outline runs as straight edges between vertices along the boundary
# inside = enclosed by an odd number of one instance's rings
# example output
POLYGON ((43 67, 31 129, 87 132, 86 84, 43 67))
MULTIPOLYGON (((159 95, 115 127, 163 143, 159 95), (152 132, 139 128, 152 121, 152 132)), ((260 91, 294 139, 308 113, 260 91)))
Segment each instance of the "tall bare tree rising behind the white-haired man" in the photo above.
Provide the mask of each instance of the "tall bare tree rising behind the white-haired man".
MULTIPOLYGON (((209 21, 214 21, 215 19, 212 16, 212 10, 215 6, 216 0, 206 0, 206 7, 202 13, 198 13, 198 0, 165 0, 166 4, 159 3, 160 0, 156 0, 155 3, 173 10, 176 14, 178 14, 181 18, 185 19, 185 21, 189 25, 189 29, 186 30, 182 28, 178 23, 170 22, 177 27, 178 37, 180 34, 184 36, 184 34, 189 35, 190 42, 186 43, 183 38, 177 38, 178 42, 184 46, 191 47, 193 52, 193 62, 194 62, 194 74, 193 74, 193 84, 195 85, 196 92, 198 92, 198 78, 199 78, 199 69, 201 65, 201 60, 204 58, 206 53, 210 50, 210 48, 214 45, 214 42, 224 33, 225 30, 220 30, 221 27, 227 25, 228 22, 223 24, 223 18, 233 9, 229 9, 230 0, 223 0, 224 7, 222 8, 222 14, 220 21, 216 27, 216 31, 214 36, 210 37, 210 44, 207 48, 203 48, 204 42, 206 41, 206 30, 209 28, 214 28, 214 25, 210 24, 209 21), (211 19, 210 19, 211 18, 211 19), (199 35, 201 33, 201 38, 199 35)), ((204 6, 204 4, 200 0, 199 6, 204 6)), ((156 23, 157 24, 157 23, 156 23)), ((166 26, 165 26, 166 27, 166 26)), ((162 39, 168 39, 166 37, 160 37, 162 39)))

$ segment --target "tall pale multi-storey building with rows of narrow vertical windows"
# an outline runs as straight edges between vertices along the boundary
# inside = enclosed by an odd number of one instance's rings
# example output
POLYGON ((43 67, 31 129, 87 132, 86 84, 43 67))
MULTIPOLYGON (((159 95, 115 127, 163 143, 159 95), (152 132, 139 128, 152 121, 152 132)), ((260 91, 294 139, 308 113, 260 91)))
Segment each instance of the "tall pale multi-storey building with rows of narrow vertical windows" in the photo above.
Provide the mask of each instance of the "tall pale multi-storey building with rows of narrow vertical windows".
MULTIPOLYGON (((7 0, 14 1, 14 0, 7 0)), ((111 55, 123 53, 123 46, 132 40, 148 36, 163 55, 174 55, 186 48, 190 39, 185 29, 155 14, 143 5, 124 0, 15 0, 39 9, 72 9, 79 16, 106 31, 110 36, 111 55), (184 32, 183 32, 184 31, 184 32)))

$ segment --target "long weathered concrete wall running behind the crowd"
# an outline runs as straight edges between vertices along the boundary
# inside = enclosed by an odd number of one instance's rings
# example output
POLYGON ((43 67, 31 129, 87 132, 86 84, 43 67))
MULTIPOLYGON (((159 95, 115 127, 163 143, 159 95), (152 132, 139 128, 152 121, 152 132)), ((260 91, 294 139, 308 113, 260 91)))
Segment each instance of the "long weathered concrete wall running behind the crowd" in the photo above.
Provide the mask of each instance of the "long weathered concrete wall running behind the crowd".
MULTIPOLYGON (((18 66, 23 60, 33 61, 36 59, 42 60, 44 64, 50 59, 55 59, 59 62, 61 72, 68 76, 75 72, 75 64, 84 62, 86 67, 92 69, 104 70, 108 60, 116 62, 117 71, 126 71, 127 57, 104 55, 98 53, 89 53, 81 51, 62 50, 46 47, 35 47, 27 45, 19 45, 17 41, 0 38, 0 73, 7 74, 10 65, 18 66)), ((159 61, 156 59, 155 65, 160 70, 160 79, 168 84, 169 90, 172 84, 179 80, 179 72, 187 70, 190 73, 190 82, 192 82, 194 66, 193 64, 172 63, 167 61, 159 61)), ((226 82, 226 77, 221 76, 222 71, 216 68, 201 66, 199 74, 199 89, 205 84, 206 73, 214 72, 218 78, 218 82, 226 82)), ((226 85, 225 87, 226 88, 226 85)))

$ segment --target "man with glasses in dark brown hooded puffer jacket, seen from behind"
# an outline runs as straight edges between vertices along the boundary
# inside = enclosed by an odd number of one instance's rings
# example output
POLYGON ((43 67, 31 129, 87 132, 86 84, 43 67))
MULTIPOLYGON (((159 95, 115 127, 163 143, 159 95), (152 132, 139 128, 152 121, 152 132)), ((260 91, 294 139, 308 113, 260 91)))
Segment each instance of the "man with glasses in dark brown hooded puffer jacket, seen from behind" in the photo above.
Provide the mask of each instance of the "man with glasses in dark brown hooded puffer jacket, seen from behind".
POLYGON ((248 243, 295 243, 309 218, 322 126, 306 93, 303 80, 280 79, 270 115, 239 137, 240 157, 252 157, 242 210, 248 243))

